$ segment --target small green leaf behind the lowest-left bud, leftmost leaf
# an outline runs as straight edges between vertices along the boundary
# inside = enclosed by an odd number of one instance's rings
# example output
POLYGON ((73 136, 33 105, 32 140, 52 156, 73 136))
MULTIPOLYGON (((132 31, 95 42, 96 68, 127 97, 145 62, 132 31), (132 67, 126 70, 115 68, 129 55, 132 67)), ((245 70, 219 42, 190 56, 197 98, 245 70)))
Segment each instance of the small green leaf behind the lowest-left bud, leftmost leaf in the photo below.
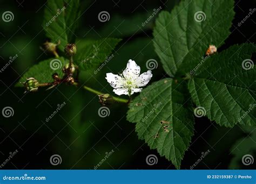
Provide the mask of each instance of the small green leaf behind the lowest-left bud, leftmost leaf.
MULTIPOLYGON (((25 82, 26 78, 29 77, 34 77, 39 83, 53 82, 52 74, 57 73, 59 77, 63 77, 62 68, 66 63, 69 63, 69 61, 62 57, 41 61, 37 65, 29 68, 21 79, 19 79, 19 82, 25 82)), ((22 85, 17 83, 16 86, 22 85)))

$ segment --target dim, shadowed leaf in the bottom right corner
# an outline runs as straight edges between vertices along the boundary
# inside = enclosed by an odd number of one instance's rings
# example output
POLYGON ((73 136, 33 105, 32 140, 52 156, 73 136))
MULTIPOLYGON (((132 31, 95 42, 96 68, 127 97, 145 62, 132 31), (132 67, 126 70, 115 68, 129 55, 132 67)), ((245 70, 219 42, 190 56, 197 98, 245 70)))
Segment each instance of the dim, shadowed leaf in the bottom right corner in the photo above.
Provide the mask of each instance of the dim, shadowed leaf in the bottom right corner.
MULTIPOLYGON (((229 169, 239 169, 241 168, 242 160, 244 160, 245 164, 251 165, 251 156, 256 152, 256 128, 248 127, 250 131, 246 137, 242 137, 236 141, 236 143, 231 148, 231 154, 233 154, 233 158, 231 159, 229 169), (242 159, 244 157, 244 159, 242 159)), ((244 165, 245 166, 245 165, 244 165)))

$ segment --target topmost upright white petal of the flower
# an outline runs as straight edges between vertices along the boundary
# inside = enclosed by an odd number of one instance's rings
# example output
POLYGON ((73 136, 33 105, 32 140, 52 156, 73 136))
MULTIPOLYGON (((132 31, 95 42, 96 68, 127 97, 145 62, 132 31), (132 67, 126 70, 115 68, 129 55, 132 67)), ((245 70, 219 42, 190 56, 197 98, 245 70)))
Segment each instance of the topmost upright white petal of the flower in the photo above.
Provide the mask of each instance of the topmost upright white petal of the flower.
POLYGON ((129 60, 127 66, 123 72, 125 79, 136 79, 140 74, 140 67, 135 61, 129 60))

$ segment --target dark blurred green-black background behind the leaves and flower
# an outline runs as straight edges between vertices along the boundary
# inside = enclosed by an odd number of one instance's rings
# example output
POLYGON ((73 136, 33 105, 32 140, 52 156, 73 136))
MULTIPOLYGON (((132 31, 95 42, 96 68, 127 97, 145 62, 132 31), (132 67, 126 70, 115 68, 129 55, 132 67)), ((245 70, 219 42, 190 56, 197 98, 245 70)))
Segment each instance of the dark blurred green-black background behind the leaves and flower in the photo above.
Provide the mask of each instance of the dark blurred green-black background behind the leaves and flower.
MULTIPOLYGON (((149 59, 159 61, 152 45, 152 28, 154 19, 142 27, 142 21, 162 6, 171 11, 179 1, 82 1, 83 14, 77 30, 76 38, 123 38, 114 58, 99 74, 82 73, 81 79, 105 93, 113 94, 107 84, 105 73, 122 71, 127 60, 136 60, 145 72, 145 62, 149 59), (98 13, 107 11, 109 22, 98 21, 98 13)), ((61 85, 51 91, 40 90, 38 93, 24 95, 23 88, 15 88, 14 84, 33 64, 52 57, 39 47, 47 40, 42 29, 43 12, 46 1, 3 1, 0 13, 12 11, 14 21, 0 24, 0 59, 2 68, 10 56, 18 54, 18 58, 0 73, 0 109, 10 106, 14 116, 0 116, 0 164, 9 157, 9 152, 18 153, 4 166, 4 169, 93 169, 105 157, 105 152, 114 150, 99 169, 174 169, 170 161, 150 150, 144 140, 138 140, 134 132, 135 124, 126 121, 127 107, 113 105, 109 117, 98 116, 100 104, 98 98, 83 89, 61 85), (51 119, 57 104, 67 105, 51 119), (50 157, 59 154, 62 164, 52 166, 50 157), (158 163, 146 164, 146 157, 155 154, 158 163)), ((248 15, 249 9, 255 8, 255 1, 235 1, 235 18, 231 27, 231 35, 225 45, 218 48, 222 51, 233 44, 252 43, 255 40, 255 15, 246 20, 240 27, 238 23, 248 15)), ((160 66, 154 71, 152 81, 166 76, 160 66)), ((253 129, 253 128, 252 128, 253 129)), ((220 127, 207 118, 197 118, 195 133, 191 146, 185 152, 181 169, 190 169, 200 157, 201 152, 211 152, 195 169, 227 169, 233 158, 231 147, 239 138, 248 134, 240 126, 232 129, 220 127)), ((254 152, 255 153, 255 152, 254 152)), ((255 154, 254 154, 255 155, 255 154)), ((239 160, 232 168, 253 168, 254 165, 243 166, 239 160)))

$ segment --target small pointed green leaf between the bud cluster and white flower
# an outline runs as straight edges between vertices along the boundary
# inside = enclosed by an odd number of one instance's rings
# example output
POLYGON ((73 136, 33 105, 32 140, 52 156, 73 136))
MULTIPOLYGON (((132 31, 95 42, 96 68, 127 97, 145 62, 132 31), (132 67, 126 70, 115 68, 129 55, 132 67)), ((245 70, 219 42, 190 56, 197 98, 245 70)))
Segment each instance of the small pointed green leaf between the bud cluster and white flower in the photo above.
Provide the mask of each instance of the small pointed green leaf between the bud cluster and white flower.
POLYGON ((80 40, 77 43, 75 63, 80 69, 98 67, 107 59, 121 39, 105 38, 102 40, 80 40))

